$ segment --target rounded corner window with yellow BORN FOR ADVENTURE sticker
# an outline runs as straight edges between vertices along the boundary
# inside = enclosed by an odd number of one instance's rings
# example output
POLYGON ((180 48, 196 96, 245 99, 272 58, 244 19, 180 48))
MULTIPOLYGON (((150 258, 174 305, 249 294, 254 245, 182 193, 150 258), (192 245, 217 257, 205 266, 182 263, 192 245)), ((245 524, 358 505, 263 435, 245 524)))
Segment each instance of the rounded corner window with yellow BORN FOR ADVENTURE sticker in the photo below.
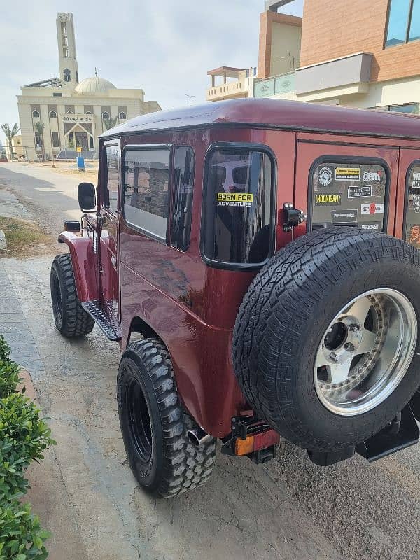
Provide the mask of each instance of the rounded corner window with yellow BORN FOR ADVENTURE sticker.
POLYGON ((266 148, 211 149, 202 209, 204 260, 224 268, 255 267, 272 255, 273 188, 274 160, 266 148))

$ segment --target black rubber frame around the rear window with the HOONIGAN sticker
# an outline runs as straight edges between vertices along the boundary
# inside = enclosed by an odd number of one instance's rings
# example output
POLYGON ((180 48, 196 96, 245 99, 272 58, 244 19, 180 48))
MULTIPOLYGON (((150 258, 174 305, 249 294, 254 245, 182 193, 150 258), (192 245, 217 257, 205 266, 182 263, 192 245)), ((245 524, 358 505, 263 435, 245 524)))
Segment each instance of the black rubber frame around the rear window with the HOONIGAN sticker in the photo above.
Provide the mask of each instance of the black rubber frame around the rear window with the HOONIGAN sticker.
MULTIPOLYGON (((314 174, 315 171, 320 164, 334 164, 334 163, 350 163, 350 164, 370 164, 370 165, 381 165, 385 169, 385 197, 384 197, 384 221, 382 224, 382 232, 386 233, 388 229, 388 214, 389 214, 389 188, 391 185, 391 169, 389 168, 388 163, 383 160, 382 158, 372 158, 370 156, 358 156, 358 155, 320 155, 318 158, 312 162, 311 167, 309 168, 309 176, 308 176, 308 196, 307 196, 307 232, 312 231, 312 214, 313 214, 313 207, 314 207, 314 174)), ((351 224, 343 224, 343 225, 351 225, 351 224)), ((342 225, 334 225, 334 228, 342 227, 342 225)), ((354 226, 357 228, 358 223, 355 223, 354 226)))

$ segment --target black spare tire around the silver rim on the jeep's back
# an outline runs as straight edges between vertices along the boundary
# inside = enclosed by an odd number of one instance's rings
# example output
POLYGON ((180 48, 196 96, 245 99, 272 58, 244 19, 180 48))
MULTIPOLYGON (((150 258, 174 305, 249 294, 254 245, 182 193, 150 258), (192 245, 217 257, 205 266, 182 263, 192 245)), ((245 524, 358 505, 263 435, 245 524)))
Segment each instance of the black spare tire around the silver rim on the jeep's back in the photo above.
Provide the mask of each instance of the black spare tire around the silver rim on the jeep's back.
POLYGON ((283 437, 311 451, 337 451, 378 433, 420 384, 420 336, 394 391, 368 412, 334 414, 316 395, 314 360, 346 302, 374 288, 405 294, 420 316, 420 252, 358 228, 311 232, 267 262, 237 315, 233 360, 249 404, 283 437))

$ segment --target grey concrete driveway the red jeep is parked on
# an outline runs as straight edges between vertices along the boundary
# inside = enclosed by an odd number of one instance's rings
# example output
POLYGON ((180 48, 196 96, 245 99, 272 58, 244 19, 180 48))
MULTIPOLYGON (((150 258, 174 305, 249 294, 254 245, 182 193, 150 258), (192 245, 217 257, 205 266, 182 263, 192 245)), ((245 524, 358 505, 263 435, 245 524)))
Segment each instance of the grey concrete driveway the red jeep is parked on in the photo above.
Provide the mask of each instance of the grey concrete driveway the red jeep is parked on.
MULTIPOLYGON (((57 208, 50 198, 41 204, 57 208)), ((41 360, 31 373, 58 442, 57 461, 86 549, 80 560, 420 559, 420 447, 373 465, 356 456, 330 468, 311 464, 290 444, 267 465, 219 454, 203 489, 174 500, 148 498, 127 467, 118 428, 117 346, 97 328, 77 342, 58 335, 50 260, 3 265, 41 360)), ((0 308, 0 332, 11 333, 5 317, 0 308)))

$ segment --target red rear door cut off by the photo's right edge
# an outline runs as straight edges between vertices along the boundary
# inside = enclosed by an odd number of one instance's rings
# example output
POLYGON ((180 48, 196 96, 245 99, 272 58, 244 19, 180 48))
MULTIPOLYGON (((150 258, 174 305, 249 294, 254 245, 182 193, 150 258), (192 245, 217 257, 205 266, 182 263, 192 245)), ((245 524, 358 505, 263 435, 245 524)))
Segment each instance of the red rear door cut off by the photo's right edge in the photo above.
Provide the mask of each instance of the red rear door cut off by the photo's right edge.
POLYGON ((420 148, 401 148, 395 236, 420 248, 420 148))

